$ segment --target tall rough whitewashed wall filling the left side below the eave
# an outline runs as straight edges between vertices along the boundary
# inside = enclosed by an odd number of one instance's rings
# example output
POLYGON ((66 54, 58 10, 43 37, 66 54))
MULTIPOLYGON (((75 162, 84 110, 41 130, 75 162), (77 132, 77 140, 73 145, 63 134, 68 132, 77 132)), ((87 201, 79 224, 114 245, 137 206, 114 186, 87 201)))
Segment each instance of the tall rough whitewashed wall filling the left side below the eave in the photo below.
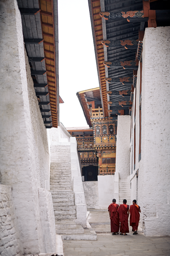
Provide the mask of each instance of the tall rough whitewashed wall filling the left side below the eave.
POLYGON ((16 0, 0 1, 0 10, 0 182, 12 187, 21 253, 40 253, 46 251, 38 187, 44 188, 49 180, 47 131, 25 55, 16 0))

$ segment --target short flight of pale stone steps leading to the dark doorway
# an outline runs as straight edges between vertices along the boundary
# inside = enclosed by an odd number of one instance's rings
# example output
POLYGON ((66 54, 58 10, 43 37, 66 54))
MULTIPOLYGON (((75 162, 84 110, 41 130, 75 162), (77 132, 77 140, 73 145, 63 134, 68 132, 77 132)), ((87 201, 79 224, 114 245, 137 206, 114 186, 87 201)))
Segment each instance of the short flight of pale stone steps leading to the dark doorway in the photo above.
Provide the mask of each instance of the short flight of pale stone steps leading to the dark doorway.
POLYGON ((99 205, 98 181, 83 181, 84 195, 88 208, 99 205))

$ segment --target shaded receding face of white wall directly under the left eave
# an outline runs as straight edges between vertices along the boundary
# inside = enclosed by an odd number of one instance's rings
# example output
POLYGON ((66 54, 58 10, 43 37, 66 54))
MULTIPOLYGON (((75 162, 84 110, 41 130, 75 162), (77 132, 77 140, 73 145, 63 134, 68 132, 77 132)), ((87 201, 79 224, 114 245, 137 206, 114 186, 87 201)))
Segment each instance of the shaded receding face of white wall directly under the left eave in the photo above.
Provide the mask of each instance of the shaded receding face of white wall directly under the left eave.
POLYGON ((31 117, 31 131, 33 136, 33 148, 37 173, 37 186, 45 188, 45 180, 49 180, 49 145, 47 130, 44 126, 42 115, 37 101, 37 96, 34 90, 33 80, 31 77, 30 65, 28 62, 27 53, 25 50, 25 62, 28 84, 28 99, 31 117))

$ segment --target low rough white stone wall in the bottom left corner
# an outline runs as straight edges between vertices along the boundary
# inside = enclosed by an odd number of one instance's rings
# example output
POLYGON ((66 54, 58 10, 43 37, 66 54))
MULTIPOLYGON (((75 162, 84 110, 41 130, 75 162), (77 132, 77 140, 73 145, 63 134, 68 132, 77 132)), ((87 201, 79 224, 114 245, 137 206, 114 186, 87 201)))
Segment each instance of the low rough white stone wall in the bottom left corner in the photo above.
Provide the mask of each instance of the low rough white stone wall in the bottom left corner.
POLYGON ((10 186, 0 184, 0 255, 21 255, 20 234, 10 186))

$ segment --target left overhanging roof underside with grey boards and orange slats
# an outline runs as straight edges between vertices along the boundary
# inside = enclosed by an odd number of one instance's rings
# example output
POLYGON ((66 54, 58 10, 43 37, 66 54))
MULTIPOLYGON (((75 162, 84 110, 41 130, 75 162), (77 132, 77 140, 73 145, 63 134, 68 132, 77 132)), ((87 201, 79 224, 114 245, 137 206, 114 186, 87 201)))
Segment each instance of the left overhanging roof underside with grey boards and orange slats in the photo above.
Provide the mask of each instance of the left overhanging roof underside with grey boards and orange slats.
POLYGON ((58 1, 17 1, 42 118, 46 128, 57 127, 59 125, 58 1))

